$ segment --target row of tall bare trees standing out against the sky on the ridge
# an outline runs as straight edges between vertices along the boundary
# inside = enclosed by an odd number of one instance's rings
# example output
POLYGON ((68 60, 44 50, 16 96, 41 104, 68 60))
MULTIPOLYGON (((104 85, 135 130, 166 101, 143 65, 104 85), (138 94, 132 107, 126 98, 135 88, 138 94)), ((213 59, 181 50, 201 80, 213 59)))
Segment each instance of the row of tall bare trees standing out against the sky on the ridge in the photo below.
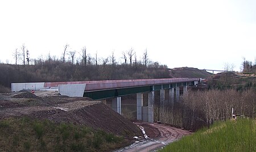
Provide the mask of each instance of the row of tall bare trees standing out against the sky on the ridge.
MULTIPOLYGON (((138 58, 137 53, 133 48, 129 50, 123 51, 121 54, 121 58, 117 58, 114 51, 110 53, 108 57, 99 57, 98 53, 90 54, 86 47, 82 47, 81 50, 72 50, 70 49, 69 44, 65 44, 63 47, 63 52, 61 53, 61 57, 51 56, 48 53, 46 60, 53 60, 53 61, 61 61, 61 62, 69 62, 72 65, 135 65, 137 64, 149 66, 155 64, 155 62, 151 61, 148 58, 148 51, 147 49, 144 50, 142 54, 142 58, 138 58), (118 62, 119 60, 119 62, 118 62)), ((15 65, 36 65, 40 64, 42 60, 45 60, 42 56, 36 58, 30 58, 30 51, 26 47, 25 44, 20 47, 20 49, 15 49, 13 52, 13 57, 15 59, 15 65)), ((158 62, 156 62, 158 64, 158 62)))

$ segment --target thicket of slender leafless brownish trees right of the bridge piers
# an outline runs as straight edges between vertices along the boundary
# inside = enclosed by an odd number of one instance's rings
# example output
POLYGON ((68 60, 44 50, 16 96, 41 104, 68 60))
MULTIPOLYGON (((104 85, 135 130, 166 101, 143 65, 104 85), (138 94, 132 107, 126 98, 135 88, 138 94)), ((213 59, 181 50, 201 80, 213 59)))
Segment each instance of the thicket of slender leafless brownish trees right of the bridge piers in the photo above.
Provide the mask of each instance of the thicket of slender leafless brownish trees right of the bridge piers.
POLYGON ((159 101, 155 102, 155 121, 161 117, 160 121, 163 124, 193 131, 203 126, 209 126, 216 121, 232 119, 232 108, 234 109, 234 115, 242 115, 241 117, 245 116, 253 119, 256 116, 255 87, 242 91, 233 88, 204 91, 188 90, 186 94, 180 96, 179 102, 171 103, 166 100, 164 105, 160 105, 159 101))

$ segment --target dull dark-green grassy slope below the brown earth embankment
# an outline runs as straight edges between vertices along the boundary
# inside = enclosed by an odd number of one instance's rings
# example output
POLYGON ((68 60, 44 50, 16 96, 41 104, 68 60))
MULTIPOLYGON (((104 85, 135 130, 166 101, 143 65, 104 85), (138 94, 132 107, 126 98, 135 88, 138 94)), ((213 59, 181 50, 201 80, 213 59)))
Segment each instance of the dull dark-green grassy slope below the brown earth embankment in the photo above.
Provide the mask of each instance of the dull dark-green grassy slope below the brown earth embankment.
POLYGON ((0 151, 111 151, 127 145, 103 130, 28 117, 0 120, 0 141, 0 151))

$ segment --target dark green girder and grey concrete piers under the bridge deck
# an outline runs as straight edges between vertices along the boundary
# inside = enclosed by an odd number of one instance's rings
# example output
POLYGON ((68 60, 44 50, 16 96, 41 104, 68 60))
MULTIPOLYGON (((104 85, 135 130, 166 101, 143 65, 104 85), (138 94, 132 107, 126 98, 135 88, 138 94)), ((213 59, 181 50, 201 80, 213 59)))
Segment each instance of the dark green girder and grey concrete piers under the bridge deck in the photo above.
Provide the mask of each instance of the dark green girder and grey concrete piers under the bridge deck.
MULTIPOLYGON (((170 83, 163 85, 152 86, 139 86, 129 88, 115 88, 112 90, 100 90, 100 91, 85 91, 84 96, 98 99, 112 99, 112 109, 122 114, 122 100, 121 96, 136 94, 137 95, 137 120, 147 121, 149 123, 154 122, 154 100, 155 91, 160 91, 160 105, 163 105, 165 100, 168 100, 170 104, 179 102, 180 87, 183 87, 183 94, 187 91, 187 86, 196 85, 197 82, 183 82, 183 83, 170 83), (169 99, 165 99, 165 90, 169 91, 169 99), (143 94, 148 94, 147 106, 143 105, 143 94)), ((160 106, 160 111, 162 106, 160 106)), ((159 118, 161 121, 161 117, 159 118)))

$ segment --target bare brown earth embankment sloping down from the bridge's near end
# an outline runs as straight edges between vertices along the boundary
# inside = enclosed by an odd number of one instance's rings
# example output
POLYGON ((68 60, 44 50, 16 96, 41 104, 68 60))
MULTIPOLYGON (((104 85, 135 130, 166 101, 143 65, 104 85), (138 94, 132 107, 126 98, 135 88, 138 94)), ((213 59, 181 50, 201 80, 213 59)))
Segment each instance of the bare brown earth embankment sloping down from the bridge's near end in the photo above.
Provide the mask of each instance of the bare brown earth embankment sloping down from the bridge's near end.
POLYGON ((0 119, 29 116, 37 119, 49 119, 56 123, 68 122, 86 125, 125 136, 131 140, 134 136, 142 136, 137 125, 101 102, 90 101, 88 98, 69 98, 45 95, 42 92, 36 93, 38 96, 30 92, 1 95, 0 119))

